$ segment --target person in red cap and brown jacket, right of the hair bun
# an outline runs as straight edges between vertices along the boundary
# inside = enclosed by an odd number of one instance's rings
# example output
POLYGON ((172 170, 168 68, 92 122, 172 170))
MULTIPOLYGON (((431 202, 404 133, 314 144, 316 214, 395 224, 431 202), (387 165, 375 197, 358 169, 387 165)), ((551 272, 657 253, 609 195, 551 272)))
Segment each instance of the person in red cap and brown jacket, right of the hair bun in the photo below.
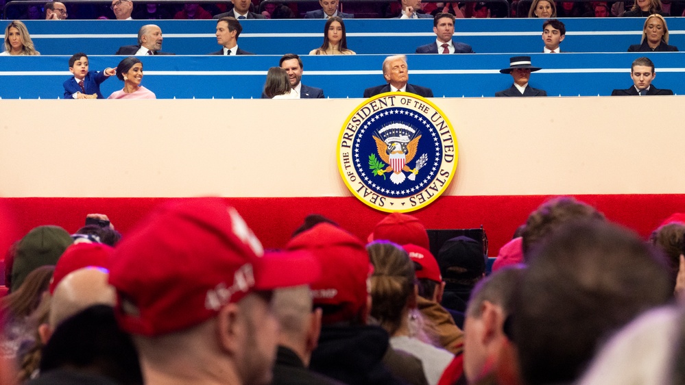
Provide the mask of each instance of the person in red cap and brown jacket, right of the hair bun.
POLYGON ((457 316, 464 325, 464 313, 457 313, 440 305, 445 290, 445 282, 440 274, 440 267, 433 254, 427 249, 416 245, 402 246, 409 254, 416 271, 418 297, 416 308, 426 319, 424 328, 426 334, 435 336, 436 342, 450 353, 461 353, 464 343, 464 333, 457 325, 457 316))

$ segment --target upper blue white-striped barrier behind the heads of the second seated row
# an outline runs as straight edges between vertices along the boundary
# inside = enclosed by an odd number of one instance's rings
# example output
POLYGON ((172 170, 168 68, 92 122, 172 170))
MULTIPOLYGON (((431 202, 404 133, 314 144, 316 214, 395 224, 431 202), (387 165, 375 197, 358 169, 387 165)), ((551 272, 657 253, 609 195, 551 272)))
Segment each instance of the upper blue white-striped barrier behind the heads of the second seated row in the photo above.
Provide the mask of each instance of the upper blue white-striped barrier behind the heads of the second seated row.
MULTIPOLYGON (((625 52, 638 44, 643 18, 566 18, 562 50, 625 52)), ((685 50, 684 18, 667 18, 671 45, 685 50)), ((149 21, 27 21, 36 49, 43 55, 113 55, 122 45, 136 44, 141 25, 149 21)), ((204 55, 219 50, 216 21, 156 21, 163 31, 163 51, 204 55)), ((260 55, 305 55, 322 44, 322 20, 247 20, 239 38, 242 49, 260 55)), ((348 47, 357 53, 414 53, 435 41, 431 19, 348 19, 348 47)), ((4 26, 4 25, 3 25, 4 26)), ((529 18, 457 19, 455 40, 477 53, 536 53, 542 51, 542 21, 529 18)))

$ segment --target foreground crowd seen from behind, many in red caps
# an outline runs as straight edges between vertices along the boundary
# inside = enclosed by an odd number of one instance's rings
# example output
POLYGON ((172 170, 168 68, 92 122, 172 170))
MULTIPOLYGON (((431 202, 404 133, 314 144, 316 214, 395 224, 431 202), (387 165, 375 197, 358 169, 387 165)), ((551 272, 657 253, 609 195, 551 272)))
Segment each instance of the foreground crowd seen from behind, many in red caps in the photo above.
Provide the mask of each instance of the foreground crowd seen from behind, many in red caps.
POLYGON ((640 240, 557 197, 529 214, 492 272, 479 240, 431 252, 424 225, 400 213, 366 245, 311 215, 271 251, 222 199, 168 201, 124 236, 106 215, 88 218, 99 225, 39 226, 8 250, 0 384, 682 377, 684 214, 640 240))

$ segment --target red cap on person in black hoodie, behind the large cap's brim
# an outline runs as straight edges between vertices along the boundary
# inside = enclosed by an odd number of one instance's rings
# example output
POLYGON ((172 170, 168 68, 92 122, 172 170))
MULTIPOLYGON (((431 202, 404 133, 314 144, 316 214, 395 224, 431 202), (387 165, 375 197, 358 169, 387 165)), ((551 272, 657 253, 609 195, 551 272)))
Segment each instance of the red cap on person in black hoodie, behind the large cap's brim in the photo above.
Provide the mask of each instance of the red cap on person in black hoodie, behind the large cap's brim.
MULTIPOLYGON (((366 310, 369 254, 361 240, 331 223, 320 223, 292 238, 286 249, 309 251, 321 264, 322 275, 311 284, 315 305, 337 305, 323 323, 355 321, 366 310)), ((362 320, 365 321, 365 320, 362 320)))

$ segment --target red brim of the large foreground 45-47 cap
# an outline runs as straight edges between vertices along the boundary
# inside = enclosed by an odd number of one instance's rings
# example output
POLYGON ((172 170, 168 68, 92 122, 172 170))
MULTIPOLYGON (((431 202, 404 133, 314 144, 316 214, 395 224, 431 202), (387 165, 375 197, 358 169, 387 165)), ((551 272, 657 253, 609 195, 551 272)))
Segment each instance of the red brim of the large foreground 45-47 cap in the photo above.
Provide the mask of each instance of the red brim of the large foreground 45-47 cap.
POLYGON ((311 284, 321 277, 320 262, 304 250, 266 251, 254 267, 254 288, 257 290, 311 284))

